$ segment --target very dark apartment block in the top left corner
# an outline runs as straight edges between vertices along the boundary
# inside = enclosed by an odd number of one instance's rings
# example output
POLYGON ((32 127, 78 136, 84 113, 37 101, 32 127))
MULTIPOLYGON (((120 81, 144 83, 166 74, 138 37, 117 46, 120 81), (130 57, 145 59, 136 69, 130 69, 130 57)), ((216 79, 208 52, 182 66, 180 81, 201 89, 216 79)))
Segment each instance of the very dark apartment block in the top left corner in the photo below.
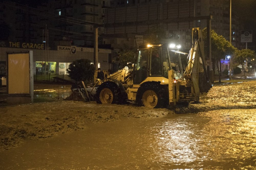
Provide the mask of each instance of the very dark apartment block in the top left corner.
MULTIPOLYGON (((36 42, 37 21, 37 15, 27 6, 2 1, 0 3, 0 40, 36 42)), ((4 46, 3 43, 2 46, 4 46)))

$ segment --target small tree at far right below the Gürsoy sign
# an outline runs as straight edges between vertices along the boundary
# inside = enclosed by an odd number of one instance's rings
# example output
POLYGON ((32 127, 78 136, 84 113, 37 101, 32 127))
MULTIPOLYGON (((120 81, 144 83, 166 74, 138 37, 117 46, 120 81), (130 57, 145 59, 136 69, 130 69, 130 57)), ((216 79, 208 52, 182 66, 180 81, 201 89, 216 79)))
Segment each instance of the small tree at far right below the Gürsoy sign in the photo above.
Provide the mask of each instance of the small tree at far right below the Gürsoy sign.
POLYGON ((242 65, 244 79, 246 79, 245 77, 246 62, 245 61, 247 59, 253 59, 253 58, 255 58, 255 51, 250 49, 237 50, 235 53, 234 61, 242 65))

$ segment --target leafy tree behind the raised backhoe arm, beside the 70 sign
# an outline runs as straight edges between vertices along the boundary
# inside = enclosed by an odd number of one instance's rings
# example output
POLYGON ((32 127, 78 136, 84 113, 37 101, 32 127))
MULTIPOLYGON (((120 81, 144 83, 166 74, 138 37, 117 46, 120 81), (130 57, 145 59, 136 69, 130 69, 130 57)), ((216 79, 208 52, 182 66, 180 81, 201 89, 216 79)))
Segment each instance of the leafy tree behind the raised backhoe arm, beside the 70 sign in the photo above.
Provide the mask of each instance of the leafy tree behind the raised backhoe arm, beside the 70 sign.
MULTIPOLYGON (((206 28, 202 30, 202 35, 206 40, 206 28)), ((227 55, 233 55, 236 50, 237 48, 230 44, 230 42, 222 35, 218 35, 214 30, 211 30, 211 59, 213 63, 213 70, 215 70, 215 66, 217 67, 219 82, 221 82, 221 68, 219 67, 220 60, 224 59, 227 55)))

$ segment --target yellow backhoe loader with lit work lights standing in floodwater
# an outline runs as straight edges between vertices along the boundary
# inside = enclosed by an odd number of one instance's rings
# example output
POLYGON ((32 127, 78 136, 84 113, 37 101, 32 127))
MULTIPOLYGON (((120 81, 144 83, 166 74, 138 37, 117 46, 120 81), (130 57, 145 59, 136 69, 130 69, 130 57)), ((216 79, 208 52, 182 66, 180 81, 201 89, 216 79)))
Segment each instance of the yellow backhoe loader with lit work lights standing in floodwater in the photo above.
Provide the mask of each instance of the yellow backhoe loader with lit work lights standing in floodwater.
POLYGON ((149 108, 199 102, 211 83, 206 76, 204 42, 200 28, 192 29, 193 45, 183 73, 180 54, 173 44, 141 46, 132 69, 124 67, 96 81, 97 103, 135 101, 149 108))

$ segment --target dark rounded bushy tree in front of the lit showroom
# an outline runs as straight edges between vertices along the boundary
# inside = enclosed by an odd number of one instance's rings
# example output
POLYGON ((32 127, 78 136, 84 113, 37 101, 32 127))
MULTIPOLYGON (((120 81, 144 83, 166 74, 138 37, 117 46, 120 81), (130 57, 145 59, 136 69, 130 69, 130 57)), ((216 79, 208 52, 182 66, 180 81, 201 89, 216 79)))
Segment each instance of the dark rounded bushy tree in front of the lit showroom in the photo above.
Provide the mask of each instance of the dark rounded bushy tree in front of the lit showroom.
POLYGON ((91 81, 94 75, 94 66, 88 59, 75 60, 69 64, 67 72, 69 77, 76 81, 91 81))

